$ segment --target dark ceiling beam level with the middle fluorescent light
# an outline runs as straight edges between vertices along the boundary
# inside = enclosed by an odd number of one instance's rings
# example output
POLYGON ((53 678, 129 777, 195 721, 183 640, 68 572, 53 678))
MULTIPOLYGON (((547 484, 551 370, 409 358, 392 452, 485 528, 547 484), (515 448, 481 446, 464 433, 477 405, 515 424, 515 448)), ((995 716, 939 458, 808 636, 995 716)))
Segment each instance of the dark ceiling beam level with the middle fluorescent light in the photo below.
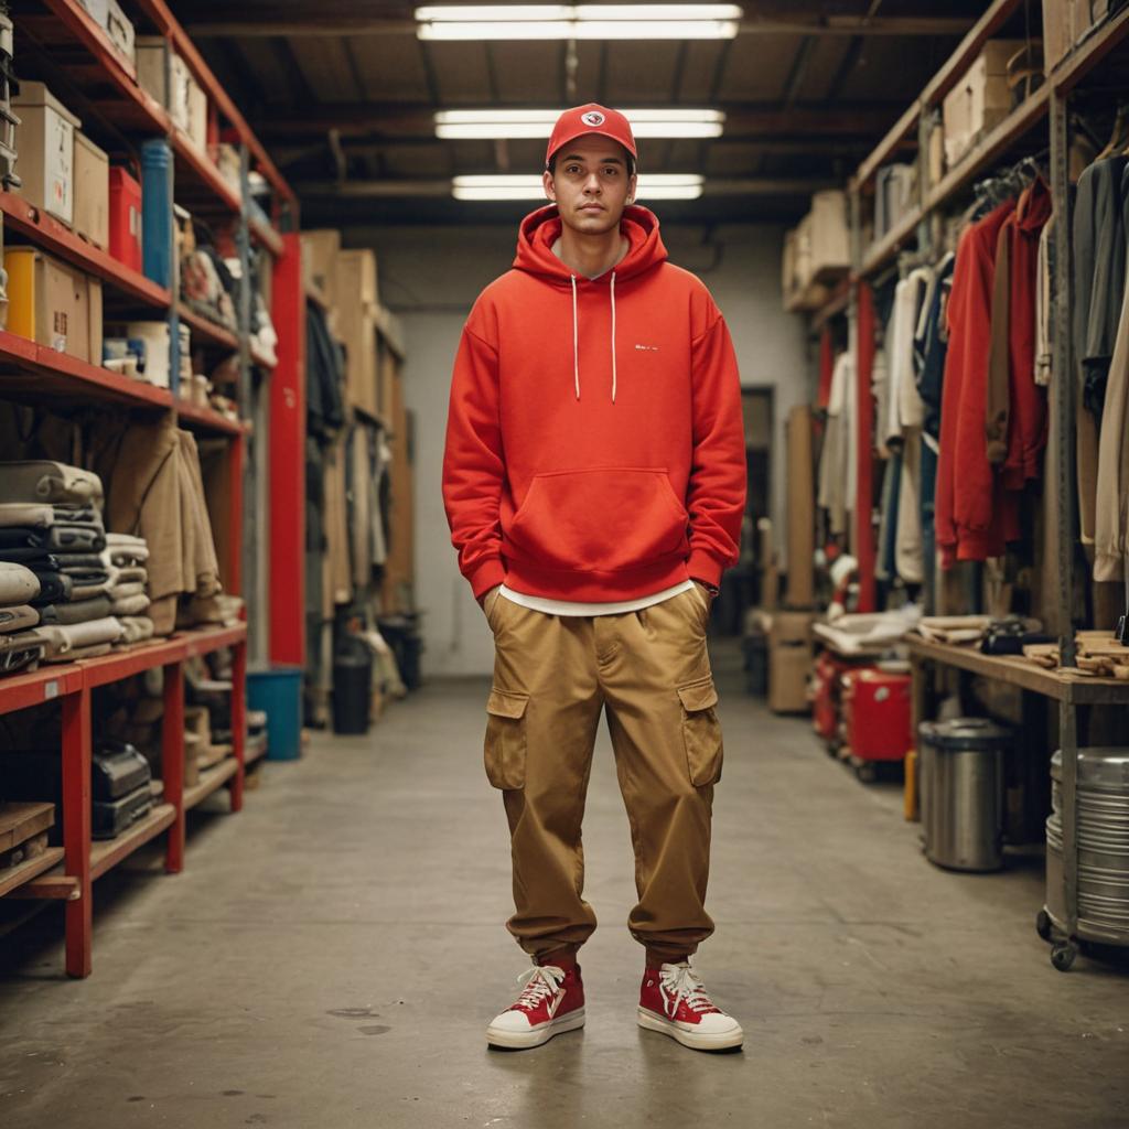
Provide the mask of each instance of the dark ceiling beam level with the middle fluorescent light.
MULTIPOLYGON (((881 135, 894 116, 889 108, 867 105, 781 110, 773 103, 723 103, 719 108, 726 112, 725 137, 728 140, 800 135, 873 138, 881 135)), ((269 106, 254 122, 254 128, 260 137, 279 139, 316 137, 332 129, 340 130, 342 137, 435 138, 432 111, 418 103, 325 103, 297 110, 269 106)))

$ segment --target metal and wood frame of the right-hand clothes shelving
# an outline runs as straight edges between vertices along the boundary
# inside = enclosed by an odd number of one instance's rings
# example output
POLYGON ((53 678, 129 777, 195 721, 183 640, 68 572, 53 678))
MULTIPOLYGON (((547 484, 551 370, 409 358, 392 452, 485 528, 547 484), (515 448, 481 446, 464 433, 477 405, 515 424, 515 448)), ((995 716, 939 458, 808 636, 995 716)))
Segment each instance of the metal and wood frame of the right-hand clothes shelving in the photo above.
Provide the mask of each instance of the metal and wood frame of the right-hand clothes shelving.
MULTIPOLYGON (((928 247, 929 221, 972 181, 992 164, 1013 150, 1017 145, 1027 143, 1032 132, 1047 122, 1050 134, 1051 195, 1054 200, 1054 254, 1058 263, 1071 262, 1070 246, 1070 193, 1069 193, 1069 99, 1075 88, 1099 68, 1103 61, 1129 38, 1129 9, 1119 12, 1104 25, 1095 28, 1087 38, 1076 44, 1074 50, 1047 78, 1044 85, 1017 106, 1004 122, 991 130, 972 151, 951 169, 937 184, 926 187, 927 166, 925 146, 918 147, 919 200, 896 227, 878 244, 861 247, 861 193, 868 189, 878 168, 885 164, 911 138, 914 130, 924 138, 927 113, 952 89, 953 85, 977 56, 983 44, 992 37, 1021 8, 1019 0, 996 0, 977 25, 968 33, 961 45, 940 71, 926 86, 920 97, 910 106, 875 150, 863 161, 852 178, 851 226, 855 269, 851 277, 850 339, 856 351, 858 368, 858 419, 859 419, 859 498, 867 505, 856 507, 855 553, 859 559, 860 607, 874 609, 874 534, 870 526, 870 483, 873 474, 873 452, 870 445, 870 369, 874 356, 874 313, 868 279, 886 268, 896 257, 899 250, 917 237, 922 247, 928 247)), ((1054 483, 1058 502, 1058 615, 1064 631, 1059 639, 1062 672, 1053 674, 1030 667, 1027 664, 1001 659, 986 659, 960 648, 939 648, 914 645, 913 655, 918 677, 924 663, 956 666, 973 671, 982 676, 1009 682, 1034 693, 1056 699, 1059 702, 1058 743, 1062 750, 1062 869, 1066 920, 1060 922, 1060 936, 1054 939, 1051 960, 1061 971, 1068 969, 1078 952, 1079 943, 1087 939, 1078 925, 1078 837, 1077 837, 1077 753, 1079 707, 1104 704, 1129 706, 1129 684, 1114 680, 1080 677, 1073 673, 1076 667, 1076 646, 1070 624, 1071 593, 1075 569, 1075 525, 1077 499, 1073 481, 1075 465, 1074 434, 1075 411, 1074 373, 1071 355, 1071 296, 1069 270, 1059 270, 1054 278, 1052 295, 1054 317, 1053 368, 1058 378, 1053 382, 1052 412, 1058 420, 1056 436, 1058 443, 1058 465, 1066 467, 1054 483), (1021 669, 1022 667, 1022 669, 1021 669)), ((1042 914, 1041 914, 1042 918, 1042 914)), ((1040 924, 1040 931, 1048 930, 1040 924)), ((1094 937, 1109 942, 1109 937, 1094 937)))

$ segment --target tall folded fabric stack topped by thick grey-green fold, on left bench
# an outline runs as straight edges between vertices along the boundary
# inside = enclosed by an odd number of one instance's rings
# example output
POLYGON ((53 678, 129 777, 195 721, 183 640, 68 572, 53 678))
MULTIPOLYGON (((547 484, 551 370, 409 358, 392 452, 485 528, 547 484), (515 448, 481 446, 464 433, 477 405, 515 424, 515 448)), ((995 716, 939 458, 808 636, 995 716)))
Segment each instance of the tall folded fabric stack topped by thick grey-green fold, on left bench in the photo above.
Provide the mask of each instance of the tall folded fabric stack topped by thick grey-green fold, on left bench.
POLYGON ((0 465, 0 561, 28 569, 45 662, 105 655, 121 637, 102 559, 102 480, 40 460, 0 465))

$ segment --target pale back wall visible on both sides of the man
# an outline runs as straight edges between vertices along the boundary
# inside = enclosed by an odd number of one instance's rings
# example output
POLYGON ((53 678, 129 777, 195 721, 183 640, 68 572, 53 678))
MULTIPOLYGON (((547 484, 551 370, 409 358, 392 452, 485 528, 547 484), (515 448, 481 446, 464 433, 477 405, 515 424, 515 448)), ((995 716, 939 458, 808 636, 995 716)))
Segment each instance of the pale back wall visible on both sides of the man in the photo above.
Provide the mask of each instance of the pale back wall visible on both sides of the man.
MULTIPOLYGON (((780 308, 784 229, 758 225, 664 227, 673 262, 710 288, 733 334, 742 383, 774 394, 772 517, 784 544, 784 421, 811 399, 803 323, 780 308)), ((374 246, 380 300, 403 320, 404 393, 415 413, 417 595, 425 612, 428 674, 482 674, 493 647, 482 613, 458 574, 443 510, 440 464, 450 367, 466 313, 479 291, 509 268, 516 230, 373 228, 347 234, 349 246, 374 246)))

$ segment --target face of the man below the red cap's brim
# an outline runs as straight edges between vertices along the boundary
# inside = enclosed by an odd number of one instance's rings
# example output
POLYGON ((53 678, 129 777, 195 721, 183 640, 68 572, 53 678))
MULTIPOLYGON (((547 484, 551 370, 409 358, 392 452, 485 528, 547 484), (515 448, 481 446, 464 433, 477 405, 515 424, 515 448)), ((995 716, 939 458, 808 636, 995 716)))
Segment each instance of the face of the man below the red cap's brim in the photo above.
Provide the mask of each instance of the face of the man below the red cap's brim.
POLYGON ((619 229, 623 209, 634 199, 636 177, 628 176, 623 146, 589 133, 561 147, 544 185, 563 224, 583 235, 604 235, 619 229))

